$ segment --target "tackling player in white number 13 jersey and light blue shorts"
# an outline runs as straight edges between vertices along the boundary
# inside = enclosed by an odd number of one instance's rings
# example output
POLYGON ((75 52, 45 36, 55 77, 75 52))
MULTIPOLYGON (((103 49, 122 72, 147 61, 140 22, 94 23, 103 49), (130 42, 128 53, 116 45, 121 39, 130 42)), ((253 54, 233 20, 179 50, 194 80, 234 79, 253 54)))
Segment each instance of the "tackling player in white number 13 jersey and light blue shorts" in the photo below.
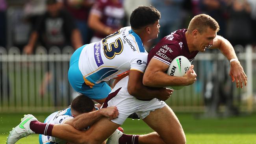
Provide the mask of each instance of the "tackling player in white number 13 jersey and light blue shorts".
POLYGON ((102 104, 111 91, 105 81, 129 74, 130 94, 141 99, 157 96, 160 100, 166 100, 170 92, 164 88, 141 90, 147 63, 143 43, 158 37, 159 19, 157 9, 140 6, 130 17, 131 27, 121 28, 101 41, 78 48, 70 59, 68 73, 73 89, 102 104))

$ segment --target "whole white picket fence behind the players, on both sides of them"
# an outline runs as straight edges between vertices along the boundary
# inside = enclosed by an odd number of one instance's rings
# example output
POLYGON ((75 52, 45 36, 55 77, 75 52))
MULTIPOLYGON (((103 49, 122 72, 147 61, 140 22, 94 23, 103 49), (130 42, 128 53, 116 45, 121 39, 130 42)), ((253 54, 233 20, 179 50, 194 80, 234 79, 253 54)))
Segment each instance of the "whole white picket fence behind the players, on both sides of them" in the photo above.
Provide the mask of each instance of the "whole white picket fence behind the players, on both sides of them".
MULTIPOLYGON (((175 111, 214 109, 223 100, 240 110, 255 111, 256 53, 251 46, 235 49, 249 78, 245 89, 236 89, 235 83, 231 83, 229 62, 219 50, 207 50, 193 61, 197 82, 175 90, 166 102, 175 111)), ((38 47, 35 55, 24 55, 16 47, 8 51, 0 47, 0 112, 55 111, 67 107, 74 95, 67 79, 73 52, 71 47, 52 47, 48 52, 38 47), (45 89, 41 89, 42 85, 46 85, 45 89)))

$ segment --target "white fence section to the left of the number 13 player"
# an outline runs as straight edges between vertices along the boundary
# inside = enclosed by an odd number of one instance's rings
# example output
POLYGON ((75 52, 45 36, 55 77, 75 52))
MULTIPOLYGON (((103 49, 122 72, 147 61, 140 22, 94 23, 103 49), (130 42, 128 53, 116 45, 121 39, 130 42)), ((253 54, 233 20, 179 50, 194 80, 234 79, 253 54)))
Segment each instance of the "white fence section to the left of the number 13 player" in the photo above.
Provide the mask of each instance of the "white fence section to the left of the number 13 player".
POLYGON ((0 110, 55 110, 72 100, 67 79, 73 48, 43 47, 35 55, 22 55, 18 48, 0 48, 0 110), (44 89, 43 89, 43 86, 44 89))

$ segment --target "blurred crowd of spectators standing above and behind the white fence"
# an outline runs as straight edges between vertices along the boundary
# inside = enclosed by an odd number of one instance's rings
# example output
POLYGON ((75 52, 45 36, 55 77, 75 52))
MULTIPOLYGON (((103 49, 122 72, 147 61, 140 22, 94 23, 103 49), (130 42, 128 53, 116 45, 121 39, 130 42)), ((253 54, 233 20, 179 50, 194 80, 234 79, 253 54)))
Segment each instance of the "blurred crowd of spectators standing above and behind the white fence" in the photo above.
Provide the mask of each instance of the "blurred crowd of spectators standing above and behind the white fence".
POLYGON ((0 46, 17 46, 32 54, 38 45, 74 49, 129 26, 140 5, 161 12, 159 39, 187 28, 194 15, 206 13, 219 22, 219 35, 233 45, 255 44, 255 0, 0 0, 0 46))

